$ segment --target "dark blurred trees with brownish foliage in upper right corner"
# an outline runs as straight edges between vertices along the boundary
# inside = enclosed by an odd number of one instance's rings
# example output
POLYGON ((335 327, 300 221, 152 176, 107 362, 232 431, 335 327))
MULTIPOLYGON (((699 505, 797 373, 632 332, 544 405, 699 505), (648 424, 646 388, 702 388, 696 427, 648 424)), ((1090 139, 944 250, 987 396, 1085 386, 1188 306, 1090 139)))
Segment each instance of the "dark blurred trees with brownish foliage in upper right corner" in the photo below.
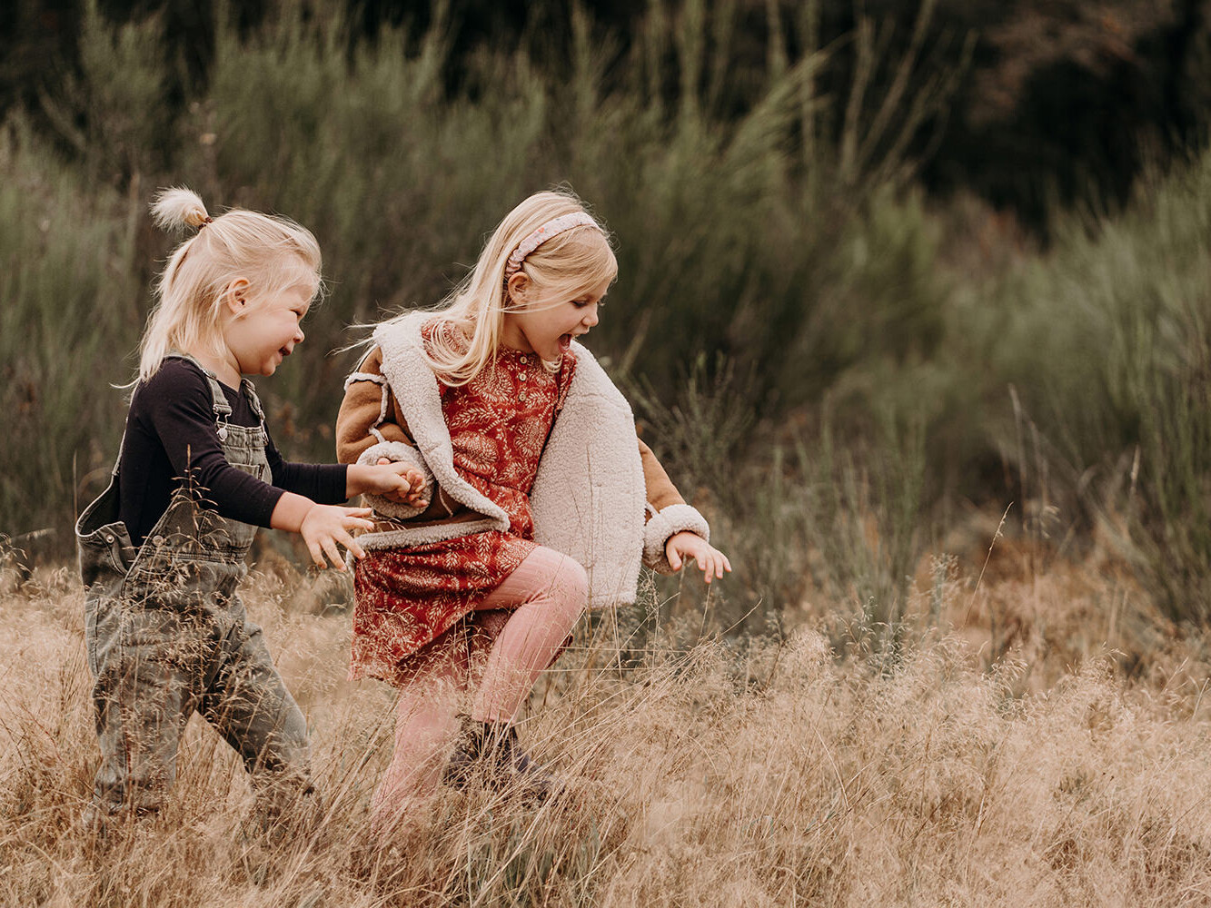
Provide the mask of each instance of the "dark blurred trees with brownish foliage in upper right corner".
POLYGON ((932 191, 975 191, 1043 229, 1056 205, 1121 205, 1148 156, 1164 162, 1205 144, 1207 0, 995 0, 963 10, 948 15, 982 19, 981 40, 924 171, 932 191))

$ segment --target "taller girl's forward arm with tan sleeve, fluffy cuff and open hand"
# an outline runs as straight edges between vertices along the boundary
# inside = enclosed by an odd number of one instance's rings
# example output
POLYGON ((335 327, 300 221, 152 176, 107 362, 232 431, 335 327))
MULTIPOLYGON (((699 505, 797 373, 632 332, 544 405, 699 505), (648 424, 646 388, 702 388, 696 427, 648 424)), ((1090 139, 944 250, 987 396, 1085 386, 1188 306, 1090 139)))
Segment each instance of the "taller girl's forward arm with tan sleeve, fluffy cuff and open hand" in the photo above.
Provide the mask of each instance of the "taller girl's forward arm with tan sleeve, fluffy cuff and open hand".
POLYGON ((668 473, 652 453, 652 448, 639 441, 639 460, 643 462, 643 482, 647 489, 648 513, 643 528, 643 563, 662 574, 682 569, 687 561, 694 561, 702 571, 702 580, 710 584, 731 570, 728 557, 714 548, 711 528, 698 508, 685 504, 668 473))

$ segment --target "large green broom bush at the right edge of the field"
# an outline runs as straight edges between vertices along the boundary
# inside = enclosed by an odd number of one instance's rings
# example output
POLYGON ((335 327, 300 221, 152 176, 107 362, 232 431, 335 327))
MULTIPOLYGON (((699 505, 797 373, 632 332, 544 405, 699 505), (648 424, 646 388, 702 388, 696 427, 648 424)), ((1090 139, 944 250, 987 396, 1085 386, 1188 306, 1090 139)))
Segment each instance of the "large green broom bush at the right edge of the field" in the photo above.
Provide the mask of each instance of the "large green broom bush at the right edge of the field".
MULTIPOLYGON (((1109 530, 1158 604, 1211 620, 1211 155, 1153 173, 970 312, 989 373, 1046 439, 1069 508, 1109 530)), ((1071 516, 1071 515, 1069 515, 1071 516)))

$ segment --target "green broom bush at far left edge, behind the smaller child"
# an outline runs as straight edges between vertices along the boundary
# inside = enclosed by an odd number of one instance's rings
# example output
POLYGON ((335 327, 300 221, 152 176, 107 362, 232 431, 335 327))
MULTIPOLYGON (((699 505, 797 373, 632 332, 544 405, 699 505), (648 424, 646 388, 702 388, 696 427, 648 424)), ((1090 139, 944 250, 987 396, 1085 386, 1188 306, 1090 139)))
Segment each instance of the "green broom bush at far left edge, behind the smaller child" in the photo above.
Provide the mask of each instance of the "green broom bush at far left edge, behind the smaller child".
POLYGON ((18 540, 64 529, 79 488, 117 450, 122 404, 108 383, 138 335, 133 262, 142 200, 98 189, 21 121, 0 133, 0 516, 18 540))

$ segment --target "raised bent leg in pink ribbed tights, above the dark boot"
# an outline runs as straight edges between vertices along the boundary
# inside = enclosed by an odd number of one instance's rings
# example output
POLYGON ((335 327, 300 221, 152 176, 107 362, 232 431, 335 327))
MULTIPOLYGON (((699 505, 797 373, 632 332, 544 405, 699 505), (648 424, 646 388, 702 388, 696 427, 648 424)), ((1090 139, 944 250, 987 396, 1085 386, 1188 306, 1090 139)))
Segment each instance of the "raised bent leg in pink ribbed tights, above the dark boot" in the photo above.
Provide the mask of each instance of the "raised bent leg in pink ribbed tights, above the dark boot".
POLYGON ((559 651, 589 602, 585 569, 552 548, 535 548, 481 609, 509 609, 471 706, 478 722, 512 722, 534 682, 559 651))

